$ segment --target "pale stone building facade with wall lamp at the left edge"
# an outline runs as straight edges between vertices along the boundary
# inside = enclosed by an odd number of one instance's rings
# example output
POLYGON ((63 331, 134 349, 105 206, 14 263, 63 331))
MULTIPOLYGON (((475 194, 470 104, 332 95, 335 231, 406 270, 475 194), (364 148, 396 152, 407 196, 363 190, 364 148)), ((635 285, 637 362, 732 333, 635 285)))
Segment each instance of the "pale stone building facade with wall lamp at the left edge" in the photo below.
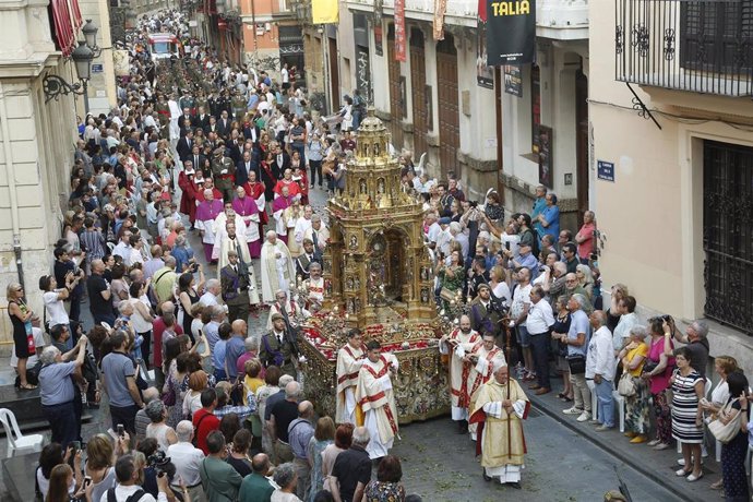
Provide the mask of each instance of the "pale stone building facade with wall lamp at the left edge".
MULTIPOLYGON (((7 2, 0 10, 0 306, 8 284, 21 282, 41 312, 36 278, 49 273, 50 250, 68 207, 75 147, 73 95, 48 98, 45 77, 77 82, 68 59, 83 20, 77 2, 7 2), (68 13, 68 16, 65 15, 68 13), (68 20, 68 23, 65 22, 68 20)), ((12 340, 2 312, 0 346, 12 340)))

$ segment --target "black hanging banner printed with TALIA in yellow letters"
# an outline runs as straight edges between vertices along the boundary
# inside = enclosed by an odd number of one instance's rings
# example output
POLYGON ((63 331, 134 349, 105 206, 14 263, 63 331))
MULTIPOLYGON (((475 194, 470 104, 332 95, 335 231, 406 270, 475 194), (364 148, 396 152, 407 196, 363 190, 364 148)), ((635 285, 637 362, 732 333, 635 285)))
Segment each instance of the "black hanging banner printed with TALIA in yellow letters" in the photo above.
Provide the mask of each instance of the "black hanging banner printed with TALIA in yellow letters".
POLYGON ((487 0, 487 63, 526 64, 536 53, 535 0, 487 0))

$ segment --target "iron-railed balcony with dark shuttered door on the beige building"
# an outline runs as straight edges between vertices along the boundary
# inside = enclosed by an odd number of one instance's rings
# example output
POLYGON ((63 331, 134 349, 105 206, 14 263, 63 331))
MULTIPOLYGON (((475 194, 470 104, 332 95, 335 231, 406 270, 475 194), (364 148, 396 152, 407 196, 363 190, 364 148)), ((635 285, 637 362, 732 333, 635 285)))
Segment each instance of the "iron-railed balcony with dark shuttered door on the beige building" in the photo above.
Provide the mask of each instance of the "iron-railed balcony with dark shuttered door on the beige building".
POLYGON ((615 80, 753 95, 753 2, 615 0, 615 80))

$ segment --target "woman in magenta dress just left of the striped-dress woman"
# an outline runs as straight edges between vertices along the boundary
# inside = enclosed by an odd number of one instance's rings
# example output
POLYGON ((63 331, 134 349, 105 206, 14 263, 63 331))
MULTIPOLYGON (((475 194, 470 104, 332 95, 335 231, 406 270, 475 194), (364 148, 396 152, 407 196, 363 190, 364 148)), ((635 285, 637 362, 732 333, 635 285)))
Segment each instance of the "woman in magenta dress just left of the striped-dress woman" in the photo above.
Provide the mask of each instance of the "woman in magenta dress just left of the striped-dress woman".
POLYGON ((653 446, 654 450, 666 450, 672 441, 672 415, 669 409, 667 390, 670 385, 669 380, 672 375, 674 358, 668 356, 665 344, 668 343, 671 350, 672 340, 670 336, 665 336, 661 318, 652 318, 649 323, 652 339, 642 376, 648 381, 648 389, 652 393, 656 439, 649 441, 648 445, 653 446))

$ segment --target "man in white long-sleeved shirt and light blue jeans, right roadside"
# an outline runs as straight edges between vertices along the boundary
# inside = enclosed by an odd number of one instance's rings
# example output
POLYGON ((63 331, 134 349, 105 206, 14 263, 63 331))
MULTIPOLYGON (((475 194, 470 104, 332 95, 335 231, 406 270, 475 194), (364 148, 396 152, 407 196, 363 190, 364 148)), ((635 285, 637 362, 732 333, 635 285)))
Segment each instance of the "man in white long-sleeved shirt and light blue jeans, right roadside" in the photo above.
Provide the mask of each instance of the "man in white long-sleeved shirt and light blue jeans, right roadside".
POLYGON ((612 401, 612 380, 617 370, 617 359, 612 348, 612 333, 607 327, 607 314, 601 310, 595 310, 588 318, 594 335, 588 344, 586 354, 586 382, 596 386, 597 414, 600 422, 596 428, 598 432, 614 427, 614 402, 612 401))

